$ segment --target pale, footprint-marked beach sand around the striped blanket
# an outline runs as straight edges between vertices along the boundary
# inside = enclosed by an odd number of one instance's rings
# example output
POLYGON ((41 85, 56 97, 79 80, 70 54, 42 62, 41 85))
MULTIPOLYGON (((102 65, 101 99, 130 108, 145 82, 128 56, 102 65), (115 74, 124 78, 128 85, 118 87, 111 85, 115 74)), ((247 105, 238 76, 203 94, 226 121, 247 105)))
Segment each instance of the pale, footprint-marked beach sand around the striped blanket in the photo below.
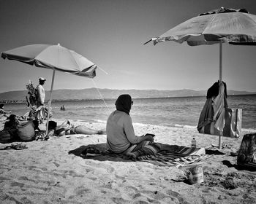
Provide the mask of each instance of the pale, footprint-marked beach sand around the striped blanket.
MULTIPOLYGON (((103 122, 72 123, 105 127, 103 122)), ((236 156, 230 154, 238 150, 242 136, 222 138, 219 150, 211 146, 218 144, 218 136, 199 134, 196 128, 134 127, 138 136, 154 133, 155 141, 163 144, 190 146, 195 136, 197 146, 213 150, 203 160, 204 182, 188 184, 184 171, 175 167, 69 154, 88 145, 104 146, 106 141, 105 135, 71 135, 23 142, 27 149, 1 150, 0 203, 255 203, 256 172, 236 169, 236 156)))

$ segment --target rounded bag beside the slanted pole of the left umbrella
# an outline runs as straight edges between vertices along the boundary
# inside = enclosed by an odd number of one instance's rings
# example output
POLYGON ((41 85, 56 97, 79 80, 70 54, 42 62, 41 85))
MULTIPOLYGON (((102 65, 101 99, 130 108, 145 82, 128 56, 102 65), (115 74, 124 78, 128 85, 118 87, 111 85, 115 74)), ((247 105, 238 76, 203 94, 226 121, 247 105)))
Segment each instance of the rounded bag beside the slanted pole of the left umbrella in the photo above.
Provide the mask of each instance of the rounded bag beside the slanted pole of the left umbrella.
POLYGON ((21 141, 32 141, 35 138, 34 124, 32 121, 27 122, 24 125, 18 125, 17 128, 18 137, 21 141))

